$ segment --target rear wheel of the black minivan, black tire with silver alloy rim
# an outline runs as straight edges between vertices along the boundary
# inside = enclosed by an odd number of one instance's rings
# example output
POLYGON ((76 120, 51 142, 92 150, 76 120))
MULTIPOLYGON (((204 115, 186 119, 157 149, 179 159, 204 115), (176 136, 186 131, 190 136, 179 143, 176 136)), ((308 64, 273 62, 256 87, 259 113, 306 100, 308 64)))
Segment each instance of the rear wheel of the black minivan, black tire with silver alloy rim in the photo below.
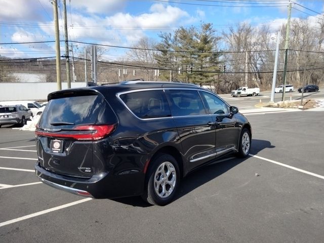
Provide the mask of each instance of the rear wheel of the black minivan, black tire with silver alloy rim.
POLYGON ((151 205, 169 204, 180 183, 180 170, 176 159, 170 154, 158 154, 151 161, 146 176, 142 198, 151 205))

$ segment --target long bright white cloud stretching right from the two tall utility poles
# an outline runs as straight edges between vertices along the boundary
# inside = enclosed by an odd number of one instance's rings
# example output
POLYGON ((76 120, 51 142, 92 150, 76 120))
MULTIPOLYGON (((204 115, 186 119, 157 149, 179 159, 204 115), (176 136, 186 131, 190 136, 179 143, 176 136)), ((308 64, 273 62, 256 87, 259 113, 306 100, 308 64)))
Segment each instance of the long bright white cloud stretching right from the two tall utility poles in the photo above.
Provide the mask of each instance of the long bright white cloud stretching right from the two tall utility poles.
MULTIPOLYGON (((178 24, 182 19, 188 19, 189 14, 179 8, 154 4, 149 13, 131 15, 116 13, 109 17, 72 14, 72 24, 68 18, 70 39, 96 39, 98 43, 123 46, 134 44, 145 36, 146 30, 159 30, 158 26, 178 24), (124 42, 123 42, 124 41, 124 42), (126 42, 126 43, 125 43, 126 42)), ((60 20, 61 21, 61 20, 60 20)), ((60 23, 61 25, 61 23, 60 23)), ((54 35, 53 22, 39 23, 39 27, 47 34, 54 35)))

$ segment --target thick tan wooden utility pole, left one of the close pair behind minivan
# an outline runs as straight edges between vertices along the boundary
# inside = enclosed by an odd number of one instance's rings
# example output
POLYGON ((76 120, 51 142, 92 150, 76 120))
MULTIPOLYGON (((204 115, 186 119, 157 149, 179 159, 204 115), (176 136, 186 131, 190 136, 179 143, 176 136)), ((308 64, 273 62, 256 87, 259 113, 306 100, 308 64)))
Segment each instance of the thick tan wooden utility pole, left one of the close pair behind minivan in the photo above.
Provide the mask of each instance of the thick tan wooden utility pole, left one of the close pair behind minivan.
POLYGON ((60 53, 60 32, 57 13, 57 0, 53 0, 54 25, 55 25, 55 51, 56 51, 56 82, 57 90, 62 89, 61 84, 61 53, 60 53))

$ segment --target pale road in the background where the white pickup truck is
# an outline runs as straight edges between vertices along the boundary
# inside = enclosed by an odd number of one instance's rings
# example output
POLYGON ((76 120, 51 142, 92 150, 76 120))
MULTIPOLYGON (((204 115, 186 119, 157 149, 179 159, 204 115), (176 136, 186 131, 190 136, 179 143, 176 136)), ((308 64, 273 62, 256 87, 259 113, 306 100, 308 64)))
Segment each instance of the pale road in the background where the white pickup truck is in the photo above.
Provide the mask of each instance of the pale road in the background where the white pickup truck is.
MULTIPOLYGON (((232 97, 230 94, 219 95, 230 105, 237 106, 239 109, 252 109, 255 105, 260 103, 268 103, 270 101, 271 92, 261 92, 258 96, 242 96, 242 97, 232 97)), ((302 94, 299 92, 286 93, 286 100, 301 100, 302 94)), ((281 101, 282 93, 276 93, 274 95, 274 101, 281 101)), ((319 92, 304 93, 304 100, 307 99, 324 99, 324 87, 319 88, 319 92)))

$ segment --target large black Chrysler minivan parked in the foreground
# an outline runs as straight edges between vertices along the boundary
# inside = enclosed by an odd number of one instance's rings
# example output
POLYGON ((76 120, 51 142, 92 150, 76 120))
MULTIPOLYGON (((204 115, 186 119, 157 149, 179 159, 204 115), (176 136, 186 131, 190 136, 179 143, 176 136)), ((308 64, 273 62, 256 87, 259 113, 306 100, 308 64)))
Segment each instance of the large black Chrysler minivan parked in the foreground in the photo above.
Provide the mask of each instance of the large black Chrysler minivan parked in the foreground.
POLYGON ((78 195, 166 205, 189 172, 251 148, 247 118, 196 85, 124 82, 48 100, 35 131, 35 172, 78 195))

